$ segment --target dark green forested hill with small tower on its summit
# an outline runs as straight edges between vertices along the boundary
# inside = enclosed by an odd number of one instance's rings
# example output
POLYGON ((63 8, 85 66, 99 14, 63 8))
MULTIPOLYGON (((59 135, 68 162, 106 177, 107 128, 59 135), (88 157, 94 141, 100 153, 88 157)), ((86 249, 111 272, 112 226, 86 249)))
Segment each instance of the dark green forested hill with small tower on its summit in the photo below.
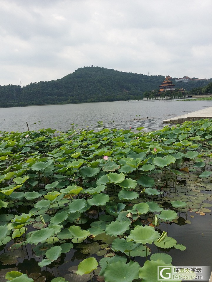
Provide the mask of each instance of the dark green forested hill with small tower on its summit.
POLYGON ((0 86, 0 107, 140 100, 145 91, 159 89, 164 79, 163 75, 84 67, 61 79, 30 83, 23 88, 20 85, 0 86))

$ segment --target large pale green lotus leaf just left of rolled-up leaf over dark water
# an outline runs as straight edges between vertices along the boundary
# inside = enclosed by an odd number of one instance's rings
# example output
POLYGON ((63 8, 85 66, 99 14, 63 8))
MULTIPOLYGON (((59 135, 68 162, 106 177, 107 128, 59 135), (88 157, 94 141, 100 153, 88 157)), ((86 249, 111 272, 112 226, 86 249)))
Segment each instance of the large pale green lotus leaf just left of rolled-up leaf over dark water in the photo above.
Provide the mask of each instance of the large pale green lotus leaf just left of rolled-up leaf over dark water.
POLYGON ((126 237, 127 241, 135 241, 136 243, 152 244, 153 241, 157 240, 160 234, 155 231, 152 226, 136 225, 133 230, 130 231, 130 235, 126 237))

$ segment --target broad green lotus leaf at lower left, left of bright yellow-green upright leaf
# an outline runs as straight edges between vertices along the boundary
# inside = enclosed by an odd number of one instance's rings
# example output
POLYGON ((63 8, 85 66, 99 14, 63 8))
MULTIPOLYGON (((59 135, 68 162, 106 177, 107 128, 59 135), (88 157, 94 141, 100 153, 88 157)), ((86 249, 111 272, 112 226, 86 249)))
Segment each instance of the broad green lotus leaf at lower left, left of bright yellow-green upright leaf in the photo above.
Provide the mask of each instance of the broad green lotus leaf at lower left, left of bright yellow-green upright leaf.
POLYGON ((26 243, 37 245, 38 243, 44 243, 51 236, 54 236, 55 231, 50 227, 46 227, 41 230, 33 231, 31 236, 27 239, 26 243))

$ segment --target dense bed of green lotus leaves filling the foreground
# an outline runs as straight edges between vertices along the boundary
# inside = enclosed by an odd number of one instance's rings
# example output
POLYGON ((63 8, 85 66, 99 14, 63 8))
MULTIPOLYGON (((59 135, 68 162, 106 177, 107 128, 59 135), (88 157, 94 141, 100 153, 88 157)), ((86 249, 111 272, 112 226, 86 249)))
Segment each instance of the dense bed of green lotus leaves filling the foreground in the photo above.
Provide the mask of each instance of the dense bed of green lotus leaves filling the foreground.
POLYGON ((183 258, 180 228, 211 214, 212 120, 142 129, 0 132, 2 281, 151 282, 183 258))

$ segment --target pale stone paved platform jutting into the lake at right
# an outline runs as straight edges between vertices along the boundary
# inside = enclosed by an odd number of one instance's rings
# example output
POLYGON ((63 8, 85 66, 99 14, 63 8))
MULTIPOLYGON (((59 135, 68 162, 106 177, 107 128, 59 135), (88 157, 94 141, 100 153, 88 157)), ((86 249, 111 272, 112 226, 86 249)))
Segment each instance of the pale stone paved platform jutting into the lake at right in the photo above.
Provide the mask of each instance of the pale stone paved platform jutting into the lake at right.
POLYGON ((187 120, 201 120, 205 118, 212 118, 212 107, 208 107, 206 109, 199 110, 193 113, 180 115, 178 117, 173 117, 168 120, 164 120, 163 123, 183 123, 187 120))

